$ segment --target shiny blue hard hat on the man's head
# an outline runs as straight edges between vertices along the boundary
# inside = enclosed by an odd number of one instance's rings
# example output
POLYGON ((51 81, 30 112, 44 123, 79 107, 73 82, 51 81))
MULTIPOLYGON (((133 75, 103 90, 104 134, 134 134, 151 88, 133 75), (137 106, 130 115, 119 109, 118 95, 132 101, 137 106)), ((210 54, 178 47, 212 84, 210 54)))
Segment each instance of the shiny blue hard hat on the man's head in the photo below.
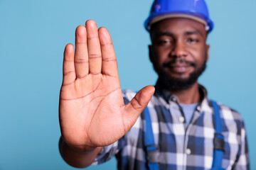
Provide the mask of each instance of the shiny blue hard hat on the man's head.
POLYGON ((153 23, 166 18, 190 18, 203 23, 208 33, 213 30, 213 21, 204 0, 155 0, 144 27, 150 30, 153 23))

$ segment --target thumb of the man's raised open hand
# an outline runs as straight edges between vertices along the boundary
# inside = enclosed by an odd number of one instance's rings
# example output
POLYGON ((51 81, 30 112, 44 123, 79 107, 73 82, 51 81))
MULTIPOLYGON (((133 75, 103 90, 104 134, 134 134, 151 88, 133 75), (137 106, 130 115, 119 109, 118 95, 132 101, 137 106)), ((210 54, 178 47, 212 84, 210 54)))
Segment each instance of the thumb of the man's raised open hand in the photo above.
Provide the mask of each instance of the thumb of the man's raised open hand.
POLYGON ((124 106, 123 122, 126 131, 132 128, 140 113, 146 108, 154 94, 154 90, 154 86, 145 86, 132 98, 132 101, 124 106))

